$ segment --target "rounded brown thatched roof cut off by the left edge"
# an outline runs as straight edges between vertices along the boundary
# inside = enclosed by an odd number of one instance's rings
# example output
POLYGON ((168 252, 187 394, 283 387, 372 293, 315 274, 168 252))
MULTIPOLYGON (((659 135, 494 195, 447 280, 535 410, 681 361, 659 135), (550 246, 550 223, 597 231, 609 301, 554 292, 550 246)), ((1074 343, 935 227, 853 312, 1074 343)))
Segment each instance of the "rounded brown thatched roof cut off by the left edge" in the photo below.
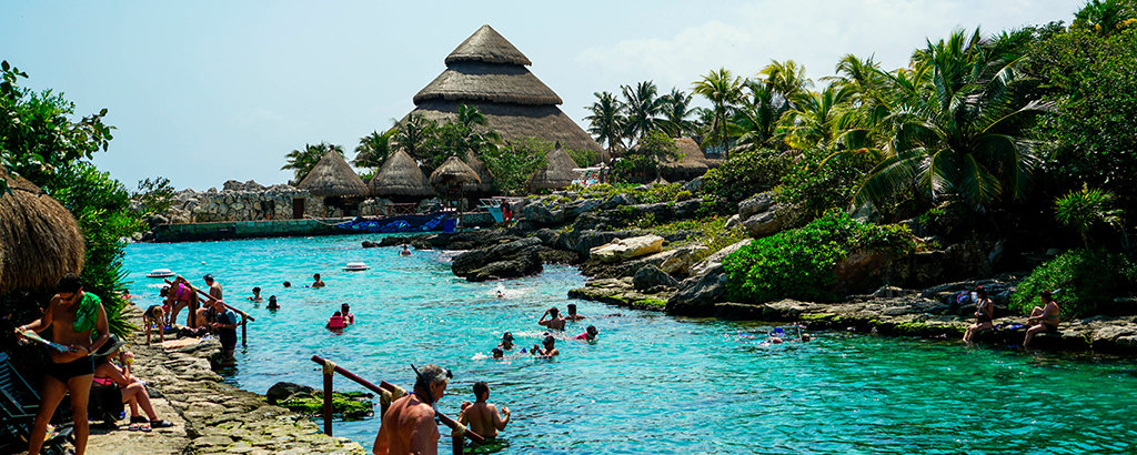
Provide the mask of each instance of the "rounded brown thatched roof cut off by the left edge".
POLYGON ((66 273, 83 271, 85 248, 75 218, 23 177, 7 175, 0 193, 0 293, 56 286, 66 273))

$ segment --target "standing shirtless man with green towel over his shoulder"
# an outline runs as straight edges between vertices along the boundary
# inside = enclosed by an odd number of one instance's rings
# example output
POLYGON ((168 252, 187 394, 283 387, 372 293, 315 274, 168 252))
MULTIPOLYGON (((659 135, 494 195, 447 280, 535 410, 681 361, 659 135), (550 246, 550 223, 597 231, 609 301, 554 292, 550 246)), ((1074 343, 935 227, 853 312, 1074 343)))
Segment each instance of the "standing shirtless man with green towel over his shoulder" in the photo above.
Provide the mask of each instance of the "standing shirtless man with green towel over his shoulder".
POLYGON ((70 392, 72 417, 75 421, 75 454, 86 452, 90 424, 86 421, 86 403, 91 395, 91 379, 94 363, 91 353, 98 350, 110 338, 107 312, 99 297, 83 291, 78 275, 68 273, 59 279, 56 295, 43 312, 43 316, 27 325, 16 328, 16 337, 31 330, 40 332, 51 326, 52 339, 69 349, 66 353, 51 350, 51 363, 43 377, 43 392, 40 394, 40 410, 35 414, 27 453, 39 454, 48 432, 48 421, 55 414, 64 395, 70 392), (92 340, 91 337, 94 337, 92 340))

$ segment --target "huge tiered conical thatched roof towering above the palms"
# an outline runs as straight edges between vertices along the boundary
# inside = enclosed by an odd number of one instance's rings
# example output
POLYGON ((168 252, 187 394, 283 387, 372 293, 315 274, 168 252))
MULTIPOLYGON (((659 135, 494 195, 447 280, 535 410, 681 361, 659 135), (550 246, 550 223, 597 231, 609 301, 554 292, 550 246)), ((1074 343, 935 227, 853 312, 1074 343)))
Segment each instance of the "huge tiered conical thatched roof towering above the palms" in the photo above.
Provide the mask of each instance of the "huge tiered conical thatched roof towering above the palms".
POLYGON ((568 118, 551 89, 525 66, 524 53, 483 25, 446 57, 446 71, 415 94, 415 110, 426 118, 453 119, 459 105, 475 106, 489 127, 506 140, 538 138, 568 149, 604 149, 568 118))

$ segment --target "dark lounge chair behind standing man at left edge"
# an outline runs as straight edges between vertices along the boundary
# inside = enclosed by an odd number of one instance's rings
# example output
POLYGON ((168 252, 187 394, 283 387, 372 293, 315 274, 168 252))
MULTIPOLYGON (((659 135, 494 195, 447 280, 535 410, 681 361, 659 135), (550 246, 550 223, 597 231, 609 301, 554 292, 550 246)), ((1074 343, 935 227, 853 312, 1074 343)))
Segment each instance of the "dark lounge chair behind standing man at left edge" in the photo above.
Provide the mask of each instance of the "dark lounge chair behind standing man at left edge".
MULTIPOLYGON (((27 450, 40 396, 11 365, 8 354, 0 353, 0 453, 27 450)), ((64 453, 64 442, 73 428, 56 427, 43 441, 43 453, 64 453)))

